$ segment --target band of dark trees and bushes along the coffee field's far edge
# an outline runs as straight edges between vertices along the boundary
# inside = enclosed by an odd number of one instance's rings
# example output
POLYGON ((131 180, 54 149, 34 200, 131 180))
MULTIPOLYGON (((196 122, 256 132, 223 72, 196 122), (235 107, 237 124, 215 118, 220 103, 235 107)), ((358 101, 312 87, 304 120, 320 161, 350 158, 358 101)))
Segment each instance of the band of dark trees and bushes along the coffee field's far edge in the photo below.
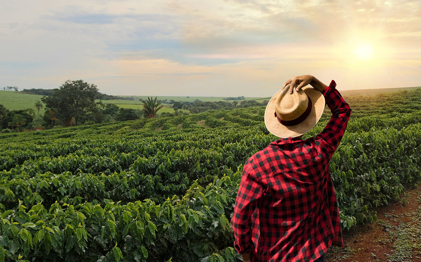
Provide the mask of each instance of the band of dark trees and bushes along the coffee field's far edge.
MULTIPOLYGON (((17 87, 16 87, 17 88, 17 87)), ((37 114, 33 109, 13 110, 5 109, 0 105, 0 127, 2 132, 13 130, 20 132, 24 129, 37 127, 69 127, 80 124, 98 124, 102 122, 127 121, 141 118, 155 118, 157 112, 163 108, 161 100, 153 99, 140 100, 143 109, 120 108, 119 106, 96 100, 120 99, 99 92, 94 84, 88 84, 83 80, 68 80, 59 88, 52 90, 45 89, 24 89, 25 93, 44 95, 34 105, 37 114), (44 114, 40 116, 40 109, 45 107, 44 114)), ((188 114, 179 109, 188 110, 190 114, 197 114, 208 110, 234 109, 249 106, 265 106, 267 101, 259 103, 254 100, 242 101, 218 101, 203 102, 196 99, 194 102, 167 101, 172 104, 173 113, 163 112, 161 116, 179 116, 188 114)))

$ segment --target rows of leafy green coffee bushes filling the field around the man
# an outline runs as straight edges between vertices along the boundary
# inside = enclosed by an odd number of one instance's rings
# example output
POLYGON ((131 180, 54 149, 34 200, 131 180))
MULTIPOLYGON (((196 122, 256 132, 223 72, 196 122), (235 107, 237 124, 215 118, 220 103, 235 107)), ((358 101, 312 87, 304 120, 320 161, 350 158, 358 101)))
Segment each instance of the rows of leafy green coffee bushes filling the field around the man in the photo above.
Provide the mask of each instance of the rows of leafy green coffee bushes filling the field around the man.
MULTIPOLYGON (((421 90, 346 101, 330 175, 350 229, 421 180, 421 90)), ((240 261, 242 165, 277 139, 264 110, 0 134, 0 261, 240 261)))

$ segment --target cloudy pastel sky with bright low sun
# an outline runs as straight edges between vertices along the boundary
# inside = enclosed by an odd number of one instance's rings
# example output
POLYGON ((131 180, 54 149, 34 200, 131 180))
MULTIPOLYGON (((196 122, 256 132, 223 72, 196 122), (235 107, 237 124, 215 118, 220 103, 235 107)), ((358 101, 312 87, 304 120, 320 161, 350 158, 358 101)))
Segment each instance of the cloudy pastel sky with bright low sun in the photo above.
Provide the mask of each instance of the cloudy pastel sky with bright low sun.
POLYGON ((421 1, 3 1, 0 88, 83 79, 109 95, 269 97, 421 86, 421 1))

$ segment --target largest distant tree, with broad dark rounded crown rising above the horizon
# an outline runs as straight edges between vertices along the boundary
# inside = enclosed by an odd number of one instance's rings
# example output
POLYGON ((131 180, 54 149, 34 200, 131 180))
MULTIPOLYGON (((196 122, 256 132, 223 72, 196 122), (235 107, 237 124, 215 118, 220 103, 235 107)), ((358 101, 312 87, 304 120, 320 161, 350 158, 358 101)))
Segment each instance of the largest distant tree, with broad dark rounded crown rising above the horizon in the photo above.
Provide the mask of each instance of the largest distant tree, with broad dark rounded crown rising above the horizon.
POLYGON ((95 102, 95 99, 101 99, 101 93, 98 92, 96 85, 88 84, 83 80, 67 80, 61 85, 55 93, 44 96, 41 100, 48 109, 56 109, 55 117, 60 119, 65 127, 71 126, 75 119, 75 125, 78 119, 85 116, 88 112, 97 110, 97 105, 101 102, 95 102))

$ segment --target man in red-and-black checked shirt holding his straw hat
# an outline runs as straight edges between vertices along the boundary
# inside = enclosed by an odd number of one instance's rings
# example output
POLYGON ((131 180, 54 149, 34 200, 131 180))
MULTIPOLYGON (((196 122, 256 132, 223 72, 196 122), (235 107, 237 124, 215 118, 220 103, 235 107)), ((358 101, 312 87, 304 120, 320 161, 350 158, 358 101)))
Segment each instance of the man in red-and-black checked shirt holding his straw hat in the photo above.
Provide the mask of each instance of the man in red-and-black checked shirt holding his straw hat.
POLYGON ((319 262, 330 245, 344 247, 329 162, 351 109, 335 87, 293 77, 267 104, 266 128, 280 139, 245 162, 231 220, 244 262, 319 262), (325 103, 333 114, 325 129, 302 140, 325 103))

